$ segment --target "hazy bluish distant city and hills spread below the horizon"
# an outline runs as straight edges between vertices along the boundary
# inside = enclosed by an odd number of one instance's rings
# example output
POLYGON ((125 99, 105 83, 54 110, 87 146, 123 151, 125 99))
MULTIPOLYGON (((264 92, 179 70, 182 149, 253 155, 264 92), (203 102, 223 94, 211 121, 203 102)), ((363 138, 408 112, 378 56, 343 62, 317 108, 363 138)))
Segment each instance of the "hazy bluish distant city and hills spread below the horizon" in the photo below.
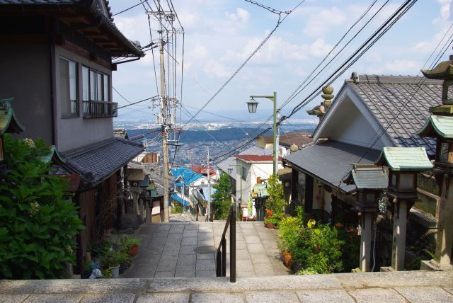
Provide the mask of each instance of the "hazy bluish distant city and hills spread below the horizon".
MULTIPOLYGON (((238 154, 255 144, 253 138, 268 127, 260 124, 260 122, 205 122, 203 126, 188 124, 180 134, 173 132, 168 136, 171 144, 168 150, 169 161, 174 167, 191 168, 193 165, 205 165, 209 148, 210 159, 215 166, 227 156, 238 154)), ((317 120, 314 119, 292 120, 280 126, 280 133, 313 132, 316 124, 317 120)), ((147 151, 161 154, 161 133, 158 126, 141 121, 115 121, 114 125, 115 128, 124 128, 130 139, 143 142, 147 151)), ((267 130, 263 135, 272 135, 272 130, 267 130)))

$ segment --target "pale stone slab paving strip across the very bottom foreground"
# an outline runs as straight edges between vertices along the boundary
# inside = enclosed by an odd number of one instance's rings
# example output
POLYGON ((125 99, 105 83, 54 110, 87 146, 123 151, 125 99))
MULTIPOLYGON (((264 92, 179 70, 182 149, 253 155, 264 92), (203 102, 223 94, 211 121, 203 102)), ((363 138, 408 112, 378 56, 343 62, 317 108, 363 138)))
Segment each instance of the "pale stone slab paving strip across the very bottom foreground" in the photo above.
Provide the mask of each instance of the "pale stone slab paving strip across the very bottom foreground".
POLYGON ((453 302, 453 273, 0 280, 0 302, 453 302))

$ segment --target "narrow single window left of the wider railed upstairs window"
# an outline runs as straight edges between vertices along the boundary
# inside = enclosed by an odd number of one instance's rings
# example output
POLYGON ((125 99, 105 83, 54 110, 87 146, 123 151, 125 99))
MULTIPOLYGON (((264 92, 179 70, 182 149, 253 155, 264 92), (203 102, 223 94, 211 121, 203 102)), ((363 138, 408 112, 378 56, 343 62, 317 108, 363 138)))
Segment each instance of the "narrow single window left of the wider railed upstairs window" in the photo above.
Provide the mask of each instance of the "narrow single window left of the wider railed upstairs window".
POLYGON ((69 59, 59 59, 60 98, 62 115, 78 116, 79 102, 77 100, 77 64, 69 59))

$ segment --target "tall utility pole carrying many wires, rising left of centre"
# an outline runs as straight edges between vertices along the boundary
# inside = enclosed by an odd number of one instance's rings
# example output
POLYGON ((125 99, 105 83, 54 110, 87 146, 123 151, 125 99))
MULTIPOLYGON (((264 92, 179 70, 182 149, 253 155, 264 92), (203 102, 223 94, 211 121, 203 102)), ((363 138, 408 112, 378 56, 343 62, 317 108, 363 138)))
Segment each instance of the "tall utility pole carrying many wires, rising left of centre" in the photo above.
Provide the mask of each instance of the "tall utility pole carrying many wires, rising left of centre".
MULTIPOLYGON (((158 0, 157 3, 160 7, 160 1, 158 0)), ((159 47, 159 57, 161 63, 161 98, 162 98, 162 117, 164 118, 164 125, 162 125, 162 156, 163 156, 163 166, 164 166, 164 222, 169 222, 170 214, 168 210, 168 137, 166 131, 166 123, 167 123, 167 104, 166 104, 166 92, 165 92, 165 67, 164 67, 164 39, 162 37, 162 16, 164 12, 159 8, 159 40, 160 40, 160 47, 159 47)))

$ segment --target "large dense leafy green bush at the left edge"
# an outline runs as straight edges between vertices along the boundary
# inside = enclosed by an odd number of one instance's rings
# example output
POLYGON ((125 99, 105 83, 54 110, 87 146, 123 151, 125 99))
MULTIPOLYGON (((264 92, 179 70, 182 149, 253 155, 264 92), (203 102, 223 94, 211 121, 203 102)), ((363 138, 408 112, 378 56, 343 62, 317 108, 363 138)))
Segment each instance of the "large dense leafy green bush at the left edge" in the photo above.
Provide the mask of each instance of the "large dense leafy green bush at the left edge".
POLYGON ((68 181, 49 174, 42 141, 4 136, 8 171, 0 176, 0 279, 62 278, 75 261, 83 229, 76 206, 65 198, 68 181))

